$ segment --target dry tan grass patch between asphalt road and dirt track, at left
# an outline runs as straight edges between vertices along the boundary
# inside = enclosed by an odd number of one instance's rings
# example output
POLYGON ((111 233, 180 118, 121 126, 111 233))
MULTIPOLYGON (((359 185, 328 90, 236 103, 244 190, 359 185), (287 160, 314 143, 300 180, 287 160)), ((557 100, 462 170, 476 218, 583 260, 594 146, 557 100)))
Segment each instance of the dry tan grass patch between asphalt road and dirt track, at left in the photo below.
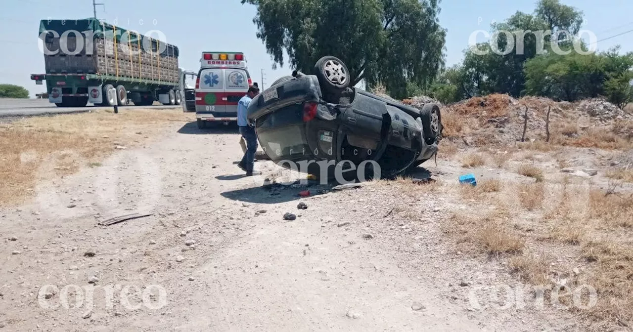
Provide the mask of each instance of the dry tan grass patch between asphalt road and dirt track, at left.
POLYGON ((10 123, 0 129, 0 206, 23 202, 39 180, 97 166, 115 142, 134 146, 170 120, 184 120, 182 111, 101 110, 10 123))

